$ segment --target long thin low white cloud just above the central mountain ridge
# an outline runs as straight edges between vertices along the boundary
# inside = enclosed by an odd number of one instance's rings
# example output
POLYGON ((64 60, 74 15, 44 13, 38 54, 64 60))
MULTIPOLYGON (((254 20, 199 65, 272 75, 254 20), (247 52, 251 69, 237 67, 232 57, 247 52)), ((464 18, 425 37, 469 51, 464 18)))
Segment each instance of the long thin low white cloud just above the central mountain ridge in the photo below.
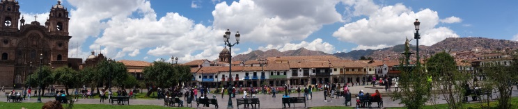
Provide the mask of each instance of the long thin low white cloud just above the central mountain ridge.
POLYGON ((306 48, 312 51, 323 51, 325 53, 334 53, 335 47, 329 44, 329 42, 323 42, 322 39, 317 38, 313 40, 313 42, 302 41, 299 44, 284 44, 283 46, 274 46, 272 44, 268 44, 267 47, 259 47, 260 50, 266 51, 269 49, 278 49, 278 51, 289 51, 289 50, 297 50, 300 48, 306 48))

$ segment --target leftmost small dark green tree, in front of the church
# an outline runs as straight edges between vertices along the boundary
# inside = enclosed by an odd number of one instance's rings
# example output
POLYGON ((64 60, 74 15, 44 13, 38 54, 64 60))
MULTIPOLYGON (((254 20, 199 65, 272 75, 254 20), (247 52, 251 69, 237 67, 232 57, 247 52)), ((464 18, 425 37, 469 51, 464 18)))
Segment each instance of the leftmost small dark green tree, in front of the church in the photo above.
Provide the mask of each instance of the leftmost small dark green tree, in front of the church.
POLYGON ((45 94, 45 87, 54 83, 54 76, 52 76, 52 70, 49 66, 38 67, 38 69, 32 74, 32 76, 27 79, 28 80, 26 80, 26 82, 31 81, 31 87, 38 87, 38 85, 41 86, 41 94, 45 94), (39 74, 41 74, 41 78, 38 81, 39 74))

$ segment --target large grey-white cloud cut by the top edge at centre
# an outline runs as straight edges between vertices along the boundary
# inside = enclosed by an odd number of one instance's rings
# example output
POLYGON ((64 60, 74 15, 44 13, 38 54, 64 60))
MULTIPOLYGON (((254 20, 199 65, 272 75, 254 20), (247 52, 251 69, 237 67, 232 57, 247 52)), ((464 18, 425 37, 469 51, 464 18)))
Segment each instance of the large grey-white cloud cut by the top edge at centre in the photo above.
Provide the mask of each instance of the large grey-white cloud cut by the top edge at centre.
POLYGON ((230 6, 218 3, 214 16, 214 28, 240 31, 242 42, 258 44, 285 44, 304 40, 324 24, 341 20, 334 8, 338 1, 314 0, 240 0, 230 6))

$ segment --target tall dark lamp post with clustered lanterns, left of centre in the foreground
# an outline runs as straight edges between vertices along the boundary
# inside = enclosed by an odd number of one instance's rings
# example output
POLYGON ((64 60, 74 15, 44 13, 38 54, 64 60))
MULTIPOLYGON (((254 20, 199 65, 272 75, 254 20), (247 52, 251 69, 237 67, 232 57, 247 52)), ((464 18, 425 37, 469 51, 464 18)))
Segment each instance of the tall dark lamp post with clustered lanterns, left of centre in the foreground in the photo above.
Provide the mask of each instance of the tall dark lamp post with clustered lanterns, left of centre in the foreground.
MULTIPOLYGON (((225 46, 228 47, 228 52, 232 53, 232 47, 234 47, 235 44, 240 44, 240 31, 237 31, 235 33, 235 43, 232 44, 228 39, 230 39, 230 30, 227 29, 225 32, 225 35, 223 35, 223 42, 225 42, 225 46)), ((228 90, 232 90, 232 54, 228 56, 228 62, 230 62, 230 65, 228 65, 228 72, 229 72, 229 78, 230 78, 230 85, 228 85, 228 90)), ((229 91, 230 92, 230 91, 229 91)), ((232 97, 228 97, 228 106, 227 108, 234 108, 232 106, 232 97)))

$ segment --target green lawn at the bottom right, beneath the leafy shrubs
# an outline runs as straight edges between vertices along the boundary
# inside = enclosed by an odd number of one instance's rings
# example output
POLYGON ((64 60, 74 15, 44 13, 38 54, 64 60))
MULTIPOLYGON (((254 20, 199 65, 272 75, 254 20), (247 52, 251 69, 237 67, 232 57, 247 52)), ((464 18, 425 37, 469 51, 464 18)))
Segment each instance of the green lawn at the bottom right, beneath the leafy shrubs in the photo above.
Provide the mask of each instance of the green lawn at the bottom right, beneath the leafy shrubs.
MULTIPOLYGON (((511 98, 511 104, 512 104, 511 108, 518 108, 518 97, 512 97, 511 98)), ((482 105, 487 106, 487 103, 484 103, 482 105)), ((497 107, 496 107, 497 105, 498 105, 497 101, 489 102, 489 106, 491 107, 491 109, 497 109, 497 107)), ((436 106, 437 106, 437 108, 448 108, 447 104, 439 104, 439 105, 436 105, 436 106)), ((425 106, 423 109, 436 109, 435 108, 436 106, 425 106)), ((464 106, 465 106, 465 108, 468 108, 468 109, 479 109, 479 108, 481 108, 480 103, 466 103, 464 106)), ((338 109, 338 108, 352 108, 352 107, 323 106, 323 107, 313 107, 311 109, 338 109)), ((389 108, 389 109, 407 109, 407 108, 389 108)))

